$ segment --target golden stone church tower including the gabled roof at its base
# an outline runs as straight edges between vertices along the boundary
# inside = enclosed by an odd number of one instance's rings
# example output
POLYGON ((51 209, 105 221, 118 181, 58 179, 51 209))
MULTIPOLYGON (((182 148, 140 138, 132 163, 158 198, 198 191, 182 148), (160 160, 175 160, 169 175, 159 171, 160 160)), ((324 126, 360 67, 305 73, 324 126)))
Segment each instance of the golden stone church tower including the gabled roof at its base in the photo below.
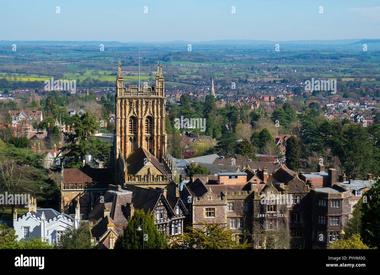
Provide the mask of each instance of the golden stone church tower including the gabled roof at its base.
POLYGON ((174 161, 166 151, 162 64, 157 63, 155 85, 141 85, 140 88, 128 85, 126 88, 119 62, 116 85, 116 184, 158 188, 175 196, 174 161))

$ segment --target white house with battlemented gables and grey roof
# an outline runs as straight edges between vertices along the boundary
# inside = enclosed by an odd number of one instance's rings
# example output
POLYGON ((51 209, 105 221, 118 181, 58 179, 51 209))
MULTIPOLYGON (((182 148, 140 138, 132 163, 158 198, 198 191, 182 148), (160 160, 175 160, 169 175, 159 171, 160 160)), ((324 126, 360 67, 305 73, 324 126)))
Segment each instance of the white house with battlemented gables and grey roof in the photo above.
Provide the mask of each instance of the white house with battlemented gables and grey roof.
POLYGON ((17 209, 13 214, 13 229, 17 240, 29 240, 41 237, 49 242, 59 242, 60 235, 70 226, 79 227, 79 204, 76 205, 75 217, 59 213, 51 208, 37 209, 36 200, 29 201, 29 211, 17 218, 17 209))

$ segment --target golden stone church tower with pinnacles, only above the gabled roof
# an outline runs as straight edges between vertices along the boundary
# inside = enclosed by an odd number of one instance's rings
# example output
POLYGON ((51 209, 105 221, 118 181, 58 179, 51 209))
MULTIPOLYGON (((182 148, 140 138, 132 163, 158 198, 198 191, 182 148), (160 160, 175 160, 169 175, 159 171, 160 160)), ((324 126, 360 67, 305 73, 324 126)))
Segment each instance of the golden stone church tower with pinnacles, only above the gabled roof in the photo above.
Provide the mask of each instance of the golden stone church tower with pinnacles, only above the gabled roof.
POLYGON ((157 159, 166 151, 165 95, 162 64, 157 63, 154 86, 123 85, 121 63, 116 77, 116 133, 114 138, 115 159, 126 159, 139 147, 143 147, 157 159))

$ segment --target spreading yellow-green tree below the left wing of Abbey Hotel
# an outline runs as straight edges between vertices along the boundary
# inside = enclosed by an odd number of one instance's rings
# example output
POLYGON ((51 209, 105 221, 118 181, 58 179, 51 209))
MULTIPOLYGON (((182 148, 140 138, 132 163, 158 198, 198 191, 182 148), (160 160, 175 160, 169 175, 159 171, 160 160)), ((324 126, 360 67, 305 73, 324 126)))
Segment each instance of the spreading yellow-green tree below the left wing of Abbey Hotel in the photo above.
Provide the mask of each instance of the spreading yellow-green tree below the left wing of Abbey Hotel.
POLYGON ((220 223, 202 223, 203 229, 188 227, 190 231, 183 235, 171 237, 171 248, 174 249, 245 249, 250 247, 247 240, 243 244, 237 243, 234 231, 225 230, 227 226, 220 223))

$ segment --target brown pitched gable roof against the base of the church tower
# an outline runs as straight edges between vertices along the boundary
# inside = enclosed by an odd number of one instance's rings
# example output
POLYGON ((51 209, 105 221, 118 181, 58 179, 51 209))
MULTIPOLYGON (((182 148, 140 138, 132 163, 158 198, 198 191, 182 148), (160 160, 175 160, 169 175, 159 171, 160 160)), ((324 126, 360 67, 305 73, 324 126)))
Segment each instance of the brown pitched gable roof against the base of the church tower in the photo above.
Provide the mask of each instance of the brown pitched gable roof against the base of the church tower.
POLYGON ((144 147, 140 146, 136 151, 134 151, 127 159, 125 160, 126 163, 128 163, 128 174, 129 175, 135 175, 144 167, 144 159, 149 159, 150 155, 150 162, 153 163, 153 165, 165 176, 167 176, 165 169, 161 165, 161 163, 158 161, 156 157, 154 157, 153 154, 150 154, 144 147))

